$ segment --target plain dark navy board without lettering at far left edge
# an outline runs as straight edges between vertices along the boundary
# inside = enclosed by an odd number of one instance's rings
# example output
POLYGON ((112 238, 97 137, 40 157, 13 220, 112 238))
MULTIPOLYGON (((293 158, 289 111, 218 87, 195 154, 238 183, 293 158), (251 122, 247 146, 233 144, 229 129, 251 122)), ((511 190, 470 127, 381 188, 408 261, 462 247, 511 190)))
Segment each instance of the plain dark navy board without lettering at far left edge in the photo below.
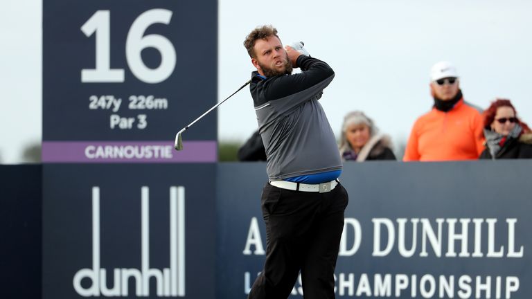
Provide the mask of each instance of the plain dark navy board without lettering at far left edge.
POLYGON ((2 298, 40 298, 42 165, 0 165, 2 298))

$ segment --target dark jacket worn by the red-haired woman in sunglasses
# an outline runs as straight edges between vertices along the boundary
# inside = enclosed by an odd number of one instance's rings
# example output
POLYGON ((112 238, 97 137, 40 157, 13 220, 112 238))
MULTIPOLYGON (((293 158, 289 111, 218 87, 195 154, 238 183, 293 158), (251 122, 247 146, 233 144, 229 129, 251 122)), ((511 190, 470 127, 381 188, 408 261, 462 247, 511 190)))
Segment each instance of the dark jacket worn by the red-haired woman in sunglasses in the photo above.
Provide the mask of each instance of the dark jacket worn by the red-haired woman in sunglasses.
POLYGON ((508 138, 495 158, 488 147, 479 156, 480 159, 532 158, 532 134, 522 134, 520 138, 508 138))

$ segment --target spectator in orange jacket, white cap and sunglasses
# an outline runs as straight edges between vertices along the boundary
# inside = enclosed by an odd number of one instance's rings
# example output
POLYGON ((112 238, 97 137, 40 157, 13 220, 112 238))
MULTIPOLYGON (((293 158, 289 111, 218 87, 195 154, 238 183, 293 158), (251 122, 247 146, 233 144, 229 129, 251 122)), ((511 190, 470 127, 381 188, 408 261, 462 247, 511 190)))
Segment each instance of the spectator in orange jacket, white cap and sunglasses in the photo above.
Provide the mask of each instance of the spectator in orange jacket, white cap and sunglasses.
POLYGON ((456 69, 450 62, 438 62, 430 80, 434 107, 414 123, 403 161, 477 159, 484 150, 482 117, 464 102, 456 69))

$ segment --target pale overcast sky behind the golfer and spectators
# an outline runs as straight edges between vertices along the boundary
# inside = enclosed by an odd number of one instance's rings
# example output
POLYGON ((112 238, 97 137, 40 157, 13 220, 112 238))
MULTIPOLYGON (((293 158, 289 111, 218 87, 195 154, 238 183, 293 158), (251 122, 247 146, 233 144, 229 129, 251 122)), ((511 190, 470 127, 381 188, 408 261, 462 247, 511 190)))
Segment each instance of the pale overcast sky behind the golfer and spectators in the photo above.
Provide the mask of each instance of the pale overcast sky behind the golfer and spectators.
MULTIPOLYGON (((247 33, 273 24, 283 43, 305 42, 310 55, 335 70, 320 102, 337 136, 344 114, 360 109, 404 142, 432 105, 429 69, 441 60, 455 64, 466 101, 486 108, 495 97, 509 98, 532 123, 531 12, 526 0, 220 0, 218 98, 254 71, 242 46, 247 33)), ((41 1, 2 1, 1 163, 23 162, 24 147, 41 139, 41 34, 41 1)), ((248 89, 220 106, 218 116, 222 140, 243 141, 257 127, 248 89)))

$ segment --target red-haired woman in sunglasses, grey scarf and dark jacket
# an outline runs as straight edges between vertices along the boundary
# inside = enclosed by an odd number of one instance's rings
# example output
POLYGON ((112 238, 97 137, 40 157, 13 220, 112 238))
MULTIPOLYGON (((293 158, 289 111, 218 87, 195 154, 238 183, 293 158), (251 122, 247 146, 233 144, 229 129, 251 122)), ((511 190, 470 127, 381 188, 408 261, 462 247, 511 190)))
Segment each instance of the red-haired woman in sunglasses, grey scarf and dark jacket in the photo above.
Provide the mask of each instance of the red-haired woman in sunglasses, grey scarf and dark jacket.
POLYGON ((510 100, 496 99, 484 111, 486 149, 481 159, 532 158, 532 131, 510 100))

